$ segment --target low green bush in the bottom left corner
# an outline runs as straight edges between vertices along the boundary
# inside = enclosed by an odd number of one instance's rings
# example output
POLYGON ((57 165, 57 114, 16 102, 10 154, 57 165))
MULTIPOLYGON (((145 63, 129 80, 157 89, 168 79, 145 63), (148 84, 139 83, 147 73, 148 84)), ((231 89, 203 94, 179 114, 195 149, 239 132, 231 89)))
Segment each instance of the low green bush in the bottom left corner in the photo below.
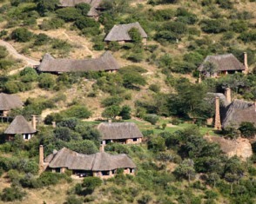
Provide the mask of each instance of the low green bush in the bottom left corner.
POLYGON ((1 194, 2 201, 22 201, 26 193, 17 187, 3 188, 3 193, 1 194))

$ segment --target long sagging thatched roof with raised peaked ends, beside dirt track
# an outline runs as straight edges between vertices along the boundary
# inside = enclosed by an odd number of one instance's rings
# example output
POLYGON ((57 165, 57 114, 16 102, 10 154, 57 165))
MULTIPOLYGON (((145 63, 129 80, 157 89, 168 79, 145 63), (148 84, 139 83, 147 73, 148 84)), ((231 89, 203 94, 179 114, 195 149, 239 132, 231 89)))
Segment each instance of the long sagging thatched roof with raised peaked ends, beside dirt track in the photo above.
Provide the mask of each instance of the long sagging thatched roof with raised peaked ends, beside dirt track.
POLYGON ((38 70, 42 72, 86 72, 119 69, 117 60, 107 51, 97 59, 54 59, 50 54, 45 54, 38 70))

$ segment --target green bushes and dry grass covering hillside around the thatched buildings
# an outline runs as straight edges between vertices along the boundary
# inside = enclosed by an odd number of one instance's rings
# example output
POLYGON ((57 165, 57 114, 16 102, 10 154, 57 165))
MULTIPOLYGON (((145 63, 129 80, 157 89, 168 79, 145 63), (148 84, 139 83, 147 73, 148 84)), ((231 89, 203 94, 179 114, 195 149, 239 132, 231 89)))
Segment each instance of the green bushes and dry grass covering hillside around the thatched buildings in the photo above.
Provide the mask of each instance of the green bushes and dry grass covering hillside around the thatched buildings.
MULTIPOLYGON (((0 187, 0 199, 29 201, 32 189, 49 190, 68 183, 68 192, 62 194, 65 203, 72 204, 255 203, 255 142, 253 156, 241 161, 235 156, 228 158, 217 144, 203 137, 210 132, 251 139, 256 133, 255 124, 250 122, 241 123, 239 129, 213 132, 207 119, 214 115, 214 106, 206 100, 207 92, 223 93, 226 88, 232 89, 232 97, 256 100, 253 3, 105 0, 96 21, 86 16, 91 9, 87 3, 60 8, 57 0, 1 1, 0 37, 23 55, 38 58, 49 52, 71 58, 85 46, 75 42, 82 37, 92 54, 99 56, 110 50, 124 66, 117 73, 62 75, 25 67, 8 75, 25 65, 0 46, 1 92, 25 98, 24 108, 11 110, 10 117, 24 115, 30 120, 31 115, 47 113, 30 141, 16 135, 14 141, 5 142, 1 135, 0 180, 8 186, 0 187), (104 43, 105 34, 114 24, 134 22, 139 22, 149 36, 146 45, 137 29, 129 30, 130 43, 104 43), (58 37, 63 33, 68 37, 58 37), (197 82, 197 68, 205 56, 232 53, 243 63, 245 51, 248 75, 236 73, 197 82), (107 181, 88 177, 77 183, 70 171, 39 175, 40 144, 44 145, 44 155, 63 147, 83 154, 98 152, 98 121, 86 121, 90 117, 140 124, 145 135, 141 145, 112 143, 105 147, 109 153, 129 155, 138 167, 136 176, 124 175, 120 170, 107 181), (52 122, 57 123, 56 128, 52 128, 52 122), (174 128, 168 127, 169 123, 174 128)), ((6 122, 0 124, 1 130, 7 126, 6 122)))

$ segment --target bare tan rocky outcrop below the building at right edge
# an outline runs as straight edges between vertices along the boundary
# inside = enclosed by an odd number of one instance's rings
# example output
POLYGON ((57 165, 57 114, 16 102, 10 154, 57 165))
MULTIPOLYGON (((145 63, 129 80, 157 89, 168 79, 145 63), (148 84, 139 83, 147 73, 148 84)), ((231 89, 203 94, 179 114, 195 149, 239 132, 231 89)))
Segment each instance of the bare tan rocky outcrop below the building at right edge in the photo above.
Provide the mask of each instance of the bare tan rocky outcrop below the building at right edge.
POLYGON ((246 138, 239 137, 236 140, 229 140, 220 136, 210 135, 206 135, 204 138, 206 141, 218 143, 221 150, 228 157, 237 155, 241 160, 245 161, 248 157, 253 155, 252 145, 246 138))

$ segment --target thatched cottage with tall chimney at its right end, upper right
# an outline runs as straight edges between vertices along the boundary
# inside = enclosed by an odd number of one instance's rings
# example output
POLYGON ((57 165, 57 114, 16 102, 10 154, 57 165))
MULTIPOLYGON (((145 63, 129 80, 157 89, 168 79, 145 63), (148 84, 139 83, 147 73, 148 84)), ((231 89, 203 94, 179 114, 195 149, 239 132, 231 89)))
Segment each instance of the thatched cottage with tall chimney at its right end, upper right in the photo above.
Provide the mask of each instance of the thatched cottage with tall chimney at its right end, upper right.
POLYGON ((225 54, 206 56, 205 61, 199 66, 199 72, 205 77, 218 77, 234 74, 236 72, 247 72, 247 69, 246 53, 244 54, 244 64, 240 63, 232 54, 225 54))

